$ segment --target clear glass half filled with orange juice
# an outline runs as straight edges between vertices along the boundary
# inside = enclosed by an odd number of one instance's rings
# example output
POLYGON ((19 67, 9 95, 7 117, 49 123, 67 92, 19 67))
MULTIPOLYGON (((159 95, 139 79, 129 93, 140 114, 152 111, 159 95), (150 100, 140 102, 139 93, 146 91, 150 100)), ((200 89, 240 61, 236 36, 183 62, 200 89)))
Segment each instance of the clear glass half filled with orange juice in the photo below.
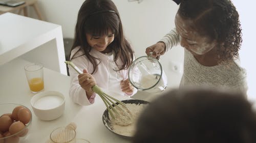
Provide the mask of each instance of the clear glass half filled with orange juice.
POLYGON ((43 67, 44 66, 40 63, 32 63, 24 67, 29 88, 32 93, 38 93, 45 89, 43 67))

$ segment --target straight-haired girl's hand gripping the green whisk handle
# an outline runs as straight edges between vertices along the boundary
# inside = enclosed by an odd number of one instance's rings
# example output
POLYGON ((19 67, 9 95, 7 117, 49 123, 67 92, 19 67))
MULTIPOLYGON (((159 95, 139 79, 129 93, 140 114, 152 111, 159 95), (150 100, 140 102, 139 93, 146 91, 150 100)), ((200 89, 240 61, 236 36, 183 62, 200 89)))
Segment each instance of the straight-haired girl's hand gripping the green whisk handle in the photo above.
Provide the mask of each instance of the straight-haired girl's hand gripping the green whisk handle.
POLYGON ((83 70, 83 73, 78 75, 78 81, 80 86, 86 91, 88 98, 90 98, 94 93, 92 87, 96 85, 95 78, 87 70, 83 70))

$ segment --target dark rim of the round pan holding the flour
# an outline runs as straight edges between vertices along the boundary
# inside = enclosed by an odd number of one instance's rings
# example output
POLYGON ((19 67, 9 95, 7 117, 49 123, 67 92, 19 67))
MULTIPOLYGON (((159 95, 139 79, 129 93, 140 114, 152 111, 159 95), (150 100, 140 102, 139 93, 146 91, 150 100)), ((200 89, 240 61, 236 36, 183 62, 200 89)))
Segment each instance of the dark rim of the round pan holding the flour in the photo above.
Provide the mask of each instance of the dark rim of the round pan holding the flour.
MULTIPOLYGON (((149 102, 144 101, 144 100, 138 100, 138 99, 129 99, 129 100, 122 100, 123 103, 132 103, 132 104, 148 104, 149 102)), ((117 105, 119 103, 116 103, 117 105)), ((113 105, 113 104, 112 104, 113 105)), ((115 106, 115 105, 113 105, 115 106)), ((105 109, 105 111, 103 112, 103 116, 102 116, 102 121, 104 126, 109 129, 111 132, 113 132, 114 134, 120 135, 121 137, 127 138, 127 139, 131 139, 132 136, 126 136, 126 135, 122 135, 122 134, 118 134, 116 132, 113 131, 112 129, 112 125, 111 125, 111 121, 110 121, 110 117, 109 117, 109 111, 108 109, 105 109)))

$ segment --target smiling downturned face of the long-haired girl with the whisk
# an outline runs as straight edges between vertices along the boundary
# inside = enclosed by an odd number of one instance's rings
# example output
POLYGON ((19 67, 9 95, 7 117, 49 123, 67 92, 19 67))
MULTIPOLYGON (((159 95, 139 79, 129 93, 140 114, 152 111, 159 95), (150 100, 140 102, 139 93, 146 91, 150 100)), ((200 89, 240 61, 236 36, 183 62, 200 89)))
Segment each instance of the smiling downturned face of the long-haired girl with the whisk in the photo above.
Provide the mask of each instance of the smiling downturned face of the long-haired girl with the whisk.
MULTIPOLYGON (((96 36, 92 34, 86 34, 88 44, 99 52, 104 52, 106 47, 114 41, 115 35, 109 30, 108 35, 96 36)), ((110 51, 108 51, 110 52, 110 51)))

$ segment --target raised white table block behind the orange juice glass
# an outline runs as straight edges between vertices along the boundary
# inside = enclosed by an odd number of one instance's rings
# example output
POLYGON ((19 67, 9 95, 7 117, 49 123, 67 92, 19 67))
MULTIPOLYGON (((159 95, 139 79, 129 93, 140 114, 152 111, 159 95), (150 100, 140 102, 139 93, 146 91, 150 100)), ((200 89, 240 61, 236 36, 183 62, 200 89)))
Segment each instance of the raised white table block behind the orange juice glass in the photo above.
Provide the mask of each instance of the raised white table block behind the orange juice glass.
POLYGON ((4 13, 0 15, 0 66, 18 56, 67 75, 60 25, 4 13))

